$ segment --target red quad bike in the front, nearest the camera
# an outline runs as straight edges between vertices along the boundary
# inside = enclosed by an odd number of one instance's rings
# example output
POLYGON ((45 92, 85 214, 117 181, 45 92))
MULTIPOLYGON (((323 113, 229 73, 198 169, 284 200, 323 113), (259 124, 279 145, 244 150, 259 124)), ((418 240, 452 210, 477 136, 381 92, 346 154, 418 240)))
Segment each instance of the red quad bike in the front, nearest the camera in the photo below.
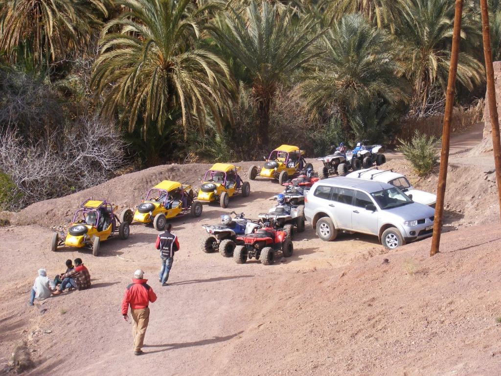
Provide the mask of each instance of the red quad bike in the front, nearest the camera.
POLYGON ((271 265, 275 261, 275 254, 282 251, 284 257, 291 257, 294 252, 292 240, 285 231, 276 230, 271 223, 253 234, 246 234, 236 239, 243 242, 243 246, 236 246, 233 259, 237 264, 244 264, 247 259, 261 260, 263 265, 271 265))

